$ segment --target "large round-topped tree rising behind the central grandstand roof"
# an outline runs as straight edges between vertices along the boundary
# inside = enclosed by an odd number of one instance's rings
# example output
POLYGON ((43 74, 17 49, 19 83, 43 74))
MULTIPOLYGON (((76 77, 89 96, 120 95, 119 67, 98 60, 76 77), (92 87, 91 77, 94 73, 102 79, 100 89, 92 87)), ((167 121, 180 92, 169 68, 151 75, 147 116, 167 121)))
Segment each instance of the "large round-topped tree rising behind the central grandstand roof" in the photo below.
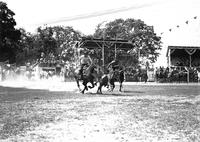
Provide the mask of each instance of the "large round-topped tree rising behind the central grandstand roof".
POLYGON ((97 26, 94 37, 129 40, 134 44, 134 49, 129 53, 132 53, 138 62, 140 57, 146 57, 152 63, 157 60, 161 38, 154 33, 152 26, 135 19, 116 19, 105 26, 102 25, 103 23, 100 23, 97 26))

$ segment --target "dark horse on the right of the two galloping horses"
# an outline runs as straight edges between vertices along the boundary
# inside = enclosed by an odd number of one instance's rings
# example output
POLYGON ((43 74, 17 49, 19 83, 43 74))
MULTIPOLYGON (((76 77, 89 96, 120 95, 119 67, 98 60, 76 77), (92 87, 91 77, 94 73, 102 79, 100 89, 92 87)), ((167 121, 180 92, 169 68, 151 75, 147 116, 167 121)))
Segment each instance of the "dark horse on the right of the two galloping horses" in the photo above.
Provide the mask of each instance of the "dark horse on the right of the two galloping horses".
POLYGON ((99 81, 99 87, 97 93, 102 94, 102 87, 110 87, 110 91, 112 92, 115 88, 115 82, 119 81, 119 91, 122 91, 122 83, 125 80, 123 67, 120 67, 119 70, 114 72, 109 72, 108 74, 104 74, 99 81))

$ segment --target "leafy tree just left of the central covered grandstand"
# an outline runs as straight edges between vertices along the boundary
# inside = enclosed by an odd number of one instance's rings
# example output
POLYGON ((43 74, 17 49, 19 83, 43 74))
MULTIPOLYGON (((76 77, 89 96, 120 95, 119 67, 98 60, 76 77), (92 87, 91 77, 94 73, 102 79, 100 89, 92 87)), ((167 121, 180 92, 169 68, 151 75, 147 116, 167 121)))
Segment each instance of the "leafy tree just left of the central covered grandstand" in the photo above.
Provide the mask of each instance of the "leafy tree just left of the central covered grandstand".
POLYGON ((81 33, 72 27, 54 26, 38 28, 37 42, 40 52, 46 57, 53 54, 57 60, 72 60, 76 41, 80 40, 81 33))

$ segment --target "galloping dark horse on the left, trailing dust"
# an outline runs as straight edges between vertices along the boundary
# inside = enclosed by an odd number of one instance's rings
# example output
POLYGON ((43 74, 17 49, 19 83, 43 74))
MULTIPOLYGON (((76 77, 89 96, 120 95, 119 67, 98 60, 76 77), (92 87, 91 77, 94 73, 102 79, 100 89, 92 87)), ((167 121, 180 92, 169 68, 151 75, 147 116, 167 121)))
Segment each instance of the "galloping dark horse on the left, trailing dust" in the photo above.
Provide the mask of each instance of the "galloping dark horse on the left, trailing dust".
POLYGON ((71 71, 73 73, 74 79, 76 80, 77 86, 78 86, 79 91, 81 93, 84 94, 85 90, 88 90, 88 87, 90 89, 95 87, 96 83, 94 83, 94 81, 96 79, 95 77, 97 76, 97 72, 96 72, 95 68, 96 68, 96 66, 94 64, 91 64, 89 67, 84 69, 83 78, 81 78, 81 75, 79 73, 79 69, 73 70, 71 68, 71 71), (82 84, 84 86, 83 90, 81 90, 80 84, 79 84, 79 81, 81 81, 81 80, 83 81, 82 82, 82 84), (88 83, 91 83, 92 86, 87 86, 88 83))

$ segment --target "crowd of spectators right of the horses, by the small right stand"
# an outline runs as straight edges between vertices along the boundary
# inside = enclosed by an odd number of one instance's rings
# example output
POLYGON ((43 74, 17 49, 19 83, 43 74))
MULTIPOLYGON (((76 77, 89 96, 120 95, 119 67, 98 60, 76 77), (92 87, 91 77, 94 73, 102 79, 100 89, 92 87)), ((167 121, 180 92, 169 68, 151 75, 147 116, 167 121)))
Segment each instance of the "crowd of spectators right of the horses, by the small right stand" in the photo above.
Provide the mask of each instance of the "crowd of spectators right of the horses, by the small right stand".
POLYGON ((200 68, 197 67, 156 67, 151 69, 126 69, 126 80, 135 82, 199 82, 200 68))

